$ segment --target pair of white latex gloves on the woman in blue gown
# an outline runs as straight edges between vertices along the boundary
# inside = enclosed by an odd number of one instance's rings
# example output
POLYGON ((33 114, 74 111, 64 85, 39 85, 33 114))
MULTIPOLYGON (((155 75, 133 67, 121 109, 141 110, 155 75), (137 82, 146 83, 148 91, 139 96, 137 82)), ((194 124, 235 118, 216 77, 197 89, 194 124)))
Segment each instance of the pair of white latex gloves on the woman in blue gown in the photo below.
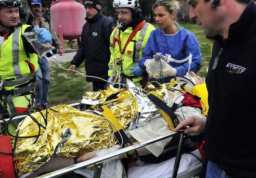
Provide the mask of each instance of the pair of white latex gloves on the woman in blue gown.
MULTIPOLYGON (((151 59, 147 59, 144 63, 146 66, 146 71, 150 75, 150 77, 155 77, 156 79, 160 79, 160 73, 161 70, 154 70, 152 66, 150 65, 151 59), (153 72, 154 71, 154 72, 153 72)), ((177 74, 177 69, 171 67, 168 63, 163 61, 165 63, 166 68, 162 70, 163 77, 169 77, 169 76, 175 76, 177 74)))

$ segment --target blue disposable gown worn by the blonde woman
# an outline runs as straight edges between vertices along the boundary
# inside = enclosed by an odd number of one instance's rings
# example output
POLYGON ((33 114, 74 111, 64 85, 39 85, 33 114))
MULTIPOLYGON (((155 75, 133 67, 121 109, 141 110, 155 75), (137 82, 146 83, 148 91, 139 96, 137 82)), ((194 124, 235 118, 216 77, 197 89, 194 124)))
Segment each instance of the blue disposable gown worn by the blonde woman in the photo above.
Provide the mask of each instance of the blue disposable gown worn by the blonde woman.
MULTIPOLYGON (((176 34, 173 35, 164 34, 163 30, 159 28, 153 30, 143 51, 139 66, 145 69, 145 61, 152 59, 157 52, 161 52, 163 55, 170 54, 176 60, 185 59, 191 53, 193 59, 190 71, 197 73, 202 67, 202 55, 197 38, 195 34, 183 27, 179 27, 176 34)), ((188 72, 188 61, 184 63, 170 62, 169 65, 177 69, 176 75, 184 76, 188 72)))

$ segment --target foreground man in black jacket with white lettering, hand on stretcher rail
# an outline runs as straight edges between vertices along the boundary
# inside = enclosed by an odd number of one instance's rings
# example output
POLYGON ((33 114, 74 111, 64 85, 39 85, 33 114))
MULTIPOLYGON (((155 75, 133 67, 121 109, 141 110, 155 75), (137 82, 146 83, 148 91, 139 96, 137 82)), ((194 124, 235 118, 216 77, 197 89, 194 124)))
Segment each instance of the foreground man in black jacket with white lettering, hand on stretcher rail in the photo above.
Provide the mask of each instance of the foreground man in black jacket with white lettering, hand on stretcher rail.
POLYGON ((256 5, 253 0, 188 0, 190 18, 214 39, 206 77, 207 118, 177 126, 205 134, 206 177, 256 177, 256 5))

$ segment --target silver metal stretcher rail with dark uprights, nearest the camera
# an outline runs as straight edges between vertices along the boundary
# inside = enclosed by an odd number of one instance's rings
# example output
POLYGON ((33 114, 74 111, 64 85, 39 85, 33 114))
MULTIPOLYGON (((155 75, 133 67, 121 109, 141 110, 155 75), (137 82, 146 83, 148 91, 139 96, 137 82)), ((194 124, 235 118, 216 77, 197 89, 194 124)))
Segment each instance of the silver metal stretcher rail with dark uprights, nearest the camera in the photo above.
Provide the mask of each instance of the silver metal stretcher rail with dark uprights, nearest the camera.
POLYGON ((93 158, 93 159, 90 159, 90 160, 86 160, 84 162, 80 162, 80 163, 65 167, 63 169, 59 169, 57 171, 53 171, 53 172, 44 174, 42 176, 39 176, 38 178, 54 178, 54 177, 61 176, 63 174, 72 172, 75 169, 81 169, 81 168, 87 167, 88 165, 91 165, 91 164, 95 164, 94 178, 100 178, 101 170, 102 170, 102 167, 103 167, 103 163, 102 163, 103 160, 107 160, 107 159, 113 158, 117 155, 121 155, 121 154, 127 153, 129 151, 139 149, 143 146, 147 146, 149 144, 159 142, 161 140, 164 140, 166 138, 172 137, 172 136, 177 135, 177 134, 181 134, 181 139, 180 139, 180 142, 179 142, 179 148, 178 148, 178 151, 177 151, 177 155, 176 155, 176 159, 175 159, 175 163, 174 163, 174 168, 173 168, 173 174, 172 174, 172 178, 176 178, 177 177, 177 172, 178 172, 178 169, 179 169, 179 163, 180 163, 180 160, 181 160, 181 152, 182 152, 182 148, 183 148, 183 144, 184 144, 184 135, 185 135, 184 130, 178 131, 178 132, 167 133, 165 135, 161 135, 161 136, 152 138, 152 139, 147 140, 145 142, 141 142, 140 144, 128 146, 128 147, 120 149, 118 151, 114 151, 112 153, 101 155, 99 157, 96 157, 96 158, 93 158))

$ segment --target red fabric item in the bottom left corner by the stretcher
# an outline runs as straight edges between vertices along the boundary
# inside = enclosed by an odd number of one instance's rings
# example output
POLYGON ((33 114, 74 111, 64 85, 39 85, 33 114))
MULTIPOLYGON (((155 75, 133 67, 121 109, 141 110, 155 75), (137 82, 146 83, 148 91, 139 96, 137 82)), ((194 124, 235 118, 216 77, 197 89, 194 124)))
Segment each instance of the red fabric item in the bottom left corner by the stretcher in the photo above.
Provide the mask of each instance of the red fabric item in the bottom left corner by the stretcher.
POLYGON ((0 136, 0 178, 16 178, 12 155, 1 152, 12 152, 10 135, 0 136))

